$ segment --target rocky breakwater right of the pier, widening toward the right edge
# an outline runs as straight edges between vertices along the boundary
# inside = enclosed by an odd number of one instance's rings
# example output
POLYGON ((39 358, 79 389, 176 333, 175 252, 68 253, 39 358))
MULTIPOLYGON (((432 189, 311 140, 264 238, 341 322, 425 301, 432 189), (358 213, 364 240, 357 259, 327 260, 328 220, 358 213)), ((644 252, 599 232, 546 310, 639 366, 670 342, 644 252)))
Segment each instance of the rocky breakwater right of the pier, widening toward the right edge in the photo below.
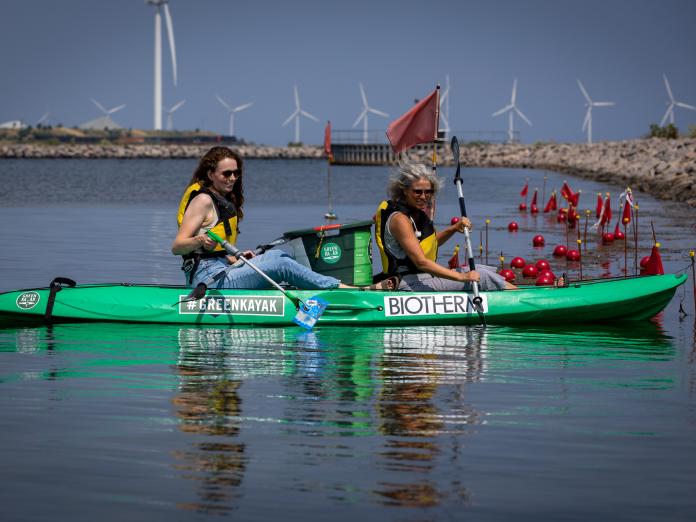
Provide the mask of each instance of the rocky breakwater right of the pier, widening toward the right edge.
MULTIPOLYGON (((447 147, 449 149, 449 147, 447 147)), ((470 167, 532 168, 625 184, 696 207, 696 140, 641 139, 587 144, 462 146, 470 167)), ((449 158, 452 160, 450 153, 449 158)))

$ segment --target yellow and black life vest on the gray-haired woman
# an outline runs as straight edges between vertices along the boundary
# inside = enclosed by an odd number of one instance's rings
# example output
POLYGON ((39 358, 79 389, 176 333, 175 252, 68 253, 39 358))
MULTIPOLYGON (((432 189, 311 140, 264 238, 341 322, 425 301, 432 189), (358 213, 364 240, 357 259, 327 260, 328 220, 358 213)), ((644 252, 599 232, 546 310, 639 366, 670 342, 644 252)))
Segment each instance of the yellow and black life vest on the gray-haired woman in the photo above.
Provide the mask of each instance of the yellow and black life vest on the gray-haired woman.
POLYGON ((384 248, 385 226, 387 219, 394 212, 401 212, 411 220, 425 257, 431 261, 437 261, 437 234, 433 222, 427 214, 422 210, 410 208, 404 203, 385 200, 379 204, 375 214, 375 241, 382 258, 382 272, 387 275, 418 273, 419 270, 408 256, 404 259, 397 259, 384 248))

